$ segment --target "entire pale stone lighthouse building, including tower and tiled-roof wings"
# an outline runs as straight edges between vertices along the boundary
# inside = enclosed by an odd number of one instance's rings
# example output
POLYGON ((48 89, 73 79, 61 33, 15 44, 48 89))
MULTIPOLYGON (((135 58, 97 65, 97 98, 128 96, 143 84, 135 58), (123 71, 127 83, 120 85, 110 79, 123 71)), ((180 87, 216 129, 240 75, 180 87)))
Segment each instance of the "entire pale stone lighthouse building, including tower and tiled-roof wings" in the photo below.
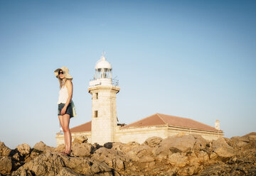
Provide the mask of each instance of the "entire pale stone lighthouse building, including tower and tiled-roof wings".
MULTIPOLYGON (((92 94, 92 121, 71 128, 75 136, 87 136, 89 143, 103 145, 107 142, 143 143, 146 138, 199 134, 207 140, 223 136, 219 121, 215 128, 192 119, 165 114, 153 114, 129 125, 117 123, 116 94, 118 81, 112 79, 112 66, 104 56, 96 63, 94 79, 90 81, 88 92, 92 94)), ((57 145, 64 143, 64 136, 57 133, 57 145)))

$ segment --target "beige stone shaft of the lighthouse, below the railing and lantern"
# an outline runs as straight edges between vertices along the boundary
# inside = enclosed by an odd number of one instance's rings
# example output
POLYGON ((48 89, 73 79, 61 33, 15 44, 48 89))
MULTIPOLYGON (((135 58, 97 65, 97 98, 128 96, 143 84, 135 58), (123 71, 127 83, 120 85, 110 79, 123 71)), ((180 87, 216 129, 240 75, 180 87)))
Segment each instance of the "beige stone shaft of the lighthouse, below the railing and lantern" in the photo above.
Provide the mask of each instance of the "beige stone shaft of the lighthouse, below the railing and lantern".
POLYGON ((114 142, 114 131, 117 126, 116 94, 119 87, 95 86, 88 90, 92 94, 92 143, 103 145, 114 142))

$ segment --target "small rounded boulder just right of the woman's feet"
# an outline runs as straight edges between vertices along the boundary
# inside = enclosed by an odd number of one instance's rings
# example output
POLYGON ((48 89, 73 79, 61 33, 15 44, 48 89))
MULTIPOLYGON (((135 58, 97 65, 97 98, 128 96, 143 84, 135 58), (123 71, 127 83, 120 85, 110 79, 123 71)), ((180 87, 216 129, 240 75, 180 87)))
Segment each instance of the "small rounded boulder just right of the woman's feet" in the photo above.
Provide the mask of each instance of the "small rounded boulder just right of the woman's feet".
POLYGON ((89 143, 73 143, 72 154, 80 157, 90 156, 92 145, 89 143))

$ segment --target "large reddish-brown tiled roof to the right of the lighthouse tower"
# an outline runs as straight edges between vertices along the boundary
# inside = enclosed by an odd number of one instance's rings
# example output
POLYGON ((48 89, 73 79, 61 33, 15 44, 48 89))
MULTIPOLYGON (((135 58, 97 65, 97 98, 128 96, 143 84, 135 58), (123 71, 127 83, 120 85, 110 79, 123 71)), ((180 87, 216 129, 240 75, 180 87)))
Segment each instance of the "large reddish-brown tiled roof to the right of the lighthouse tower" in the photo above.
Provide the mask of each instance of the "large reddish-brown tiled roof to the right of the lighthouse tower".
POLYGON ((142 126, 177 126, 177 127, 185 127, 191 129, 200 129, 200 130, 208 130, 208 131, 218 131, 213 126, 208 126, 198 121, 194 121, 192 119, 178 117, 178 116, 169 116, 165 114, 153 114, 152 116, 148 116, 139 121, 135 121, 134 123, 130 123, 127 126, 123 126, 122 128, 130 128, 130 127, 142 127, 142 126))

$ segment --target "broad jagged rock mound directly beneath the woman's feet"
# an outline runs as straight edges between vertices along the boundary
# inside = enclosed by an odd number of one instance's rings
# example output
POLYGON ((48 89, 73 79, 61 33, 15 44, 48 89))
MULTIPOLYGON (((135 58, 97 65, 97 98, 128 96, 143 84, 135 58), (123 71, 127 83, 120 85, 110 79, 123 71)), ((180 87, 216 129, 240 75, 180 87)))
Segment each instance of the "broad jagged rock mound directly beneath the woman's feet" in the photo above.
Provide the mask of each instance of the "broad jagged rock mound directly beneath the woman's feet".
POLYGON ((19 167, 18 170, 12 172, 12 175, 23 175, 28 171, 33 173, 33 175, 58 175, 62 167, 69 167, 74 172, 83 175, 111 172, 107 164, 91 160, 90 158, 67 157, 58 155, 58 153, 47 152, 19 167))

